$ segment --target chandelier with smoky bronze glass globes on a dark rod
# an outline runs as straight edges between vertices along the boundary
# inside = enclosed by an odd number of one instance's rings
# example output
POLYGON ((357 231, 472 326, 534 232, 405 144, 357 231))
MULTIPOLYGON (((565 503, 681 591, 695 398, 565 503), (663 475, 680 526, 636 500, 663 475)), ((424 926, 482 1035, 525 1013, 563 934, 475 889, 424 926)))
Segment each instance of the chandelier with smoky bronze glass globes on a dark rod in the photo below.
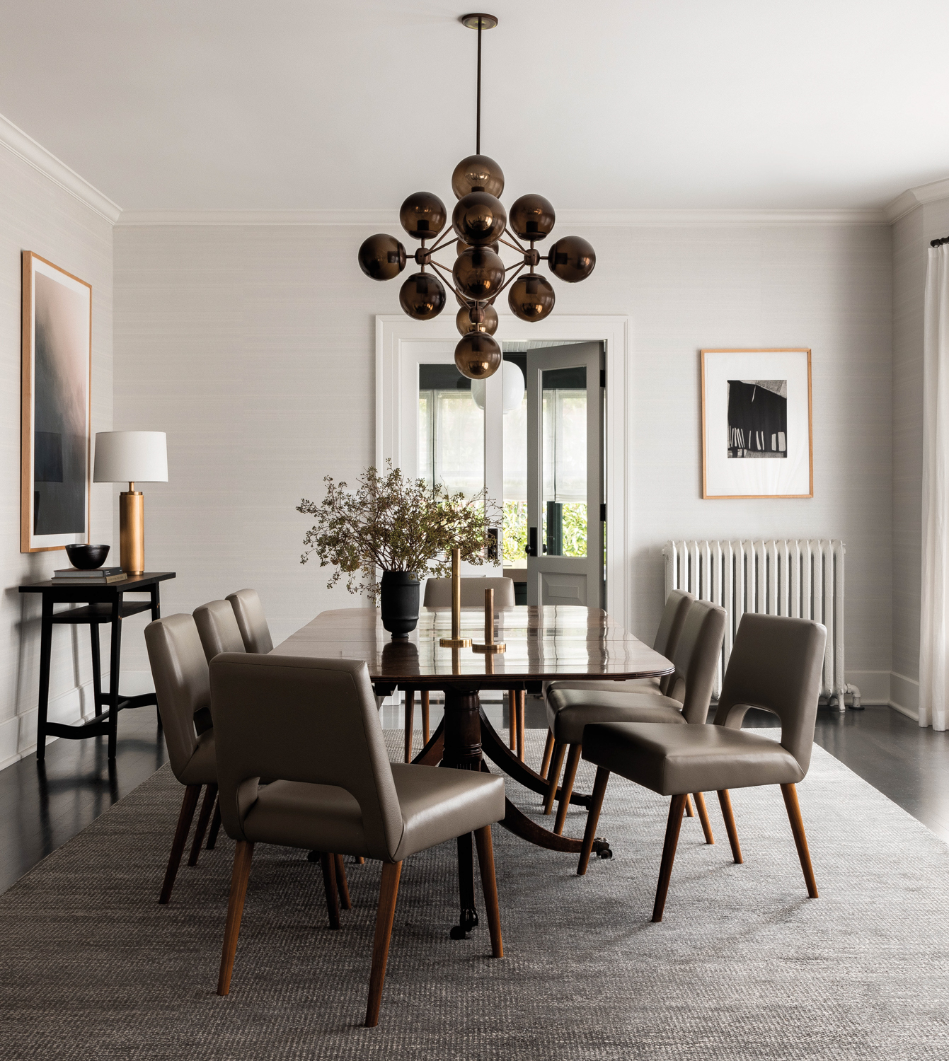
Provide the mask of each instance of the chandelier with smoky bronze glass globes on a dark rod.
MULTIPOLYGON (((550 236, 555 221, 554 208, 542 195, 521 195, 505 211, 500 199, 504 174, 493 158, 481 154, 481 33, 494 29, 498 19, 476 13, 462 15, 461 22, 478 31, 474 154, 463 158, 451 175, 458 203, 451 227, 444 234, 448 211, 434 192, 415 192, 402 203, 399 221, 420 246, 411 256, 418 272, 402 283, 399 302, 415 320, 431 320, 445 309, 448 284, 461 307, 455 324, 462 337, 454 350, 454 363, 468 379, 483 380, 493 376, 502 361, 501 347, 494 338, 498 296, 510 289, 507 305, 516 317, 542 320, 553 310, 555 296, 550 281, 535 272, 540 262, 546 261, 557 279, 576 283, 593 272, 597 255, 579 236, 563 236, 546 255, 540 254, 534 244, 550 236), (426 241, 431 246, 426 246, 426 241), (448 268, 432 256, 453 244, 458 244, 458 257, 453 267, 448 268), (502 244, 518 255, 513 264, 502 261, 502 244)), ((381 232, 370 236, 359 248, 360 267, 374 280, 394 279, 409 257, 399 240, 381 232)))

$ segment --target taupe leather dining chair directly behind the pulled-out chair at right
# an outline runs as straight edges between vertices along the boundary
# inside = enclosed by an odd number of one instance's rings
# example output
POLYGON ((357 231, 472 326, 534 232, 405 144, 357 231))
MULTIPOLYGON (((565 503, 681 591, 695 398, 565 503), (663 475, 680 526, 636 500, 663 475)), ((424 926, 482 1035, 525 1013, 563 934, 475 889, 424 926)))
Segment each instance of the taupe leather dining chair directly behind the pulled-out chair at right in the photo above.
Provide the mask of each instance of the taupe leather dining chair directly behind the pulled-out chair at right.
MULTIPOLYGON (((609 689, 607 682, 601 682, 599 688, 592 690, 558 688, 548 694, 547 720, 554 735, 554 754, 545 814, 550 814, 553 808, 560 766, 569 748, 554 825, 557 835, 564 831, 581 749, 586 741, 584 734, 591 724, 666 723, 681 726, 691 723, 701 726, 708 718, 727 616, 724 608, 709 601, 692 599, 686 602, 686 619, 672 654, 675 671, 669 676, 669 696, 658 692, 617 693, 609 689)), ((693 788, 692 792, 706 841, 713 843, 702 789, 693 788)))

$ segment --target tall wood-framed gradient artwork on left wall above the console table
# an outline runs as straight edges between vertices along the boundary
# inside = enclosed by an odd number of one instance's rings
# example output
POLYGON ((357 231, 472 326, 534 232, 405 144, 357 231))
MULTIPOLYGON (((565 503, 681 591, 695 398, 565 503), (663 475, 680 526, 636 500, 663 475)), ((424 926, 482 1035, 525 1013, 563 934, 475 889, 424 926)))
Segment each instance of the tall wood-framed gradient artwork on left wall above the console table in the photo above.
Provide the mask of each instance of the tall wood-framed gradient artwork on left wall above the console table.
POLYGON ((88 541, 92 289, 23 251, 20 552, 88 541))

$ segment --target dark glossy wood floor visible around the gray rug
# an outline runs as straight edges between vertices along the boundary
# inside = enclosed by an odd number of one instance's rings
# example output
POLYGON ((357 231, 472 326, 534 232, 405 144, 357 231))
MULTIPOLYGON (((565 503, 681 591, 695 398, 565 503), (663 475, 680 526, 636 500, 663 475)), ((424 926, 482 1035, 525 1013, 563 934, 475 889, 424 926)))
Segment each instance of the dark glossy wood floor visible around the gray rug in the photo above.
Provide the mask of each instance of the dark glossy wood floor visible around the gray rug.
MULTIPOLYGON (((756 712, 745 725, 776 721, 756 712)), ((536 710, 527 723, 546 725, 536 710)), ((920 729, 890 708, 843 715, 822 708, 815 738, 949 843, 949 733, 920 729)), ((111 769, 105 751, 102 737, 55 741, 47 747, 45 767, 31 755, 0 770, 0 891, 168 761, 155 709, 123 712, 111 769)))

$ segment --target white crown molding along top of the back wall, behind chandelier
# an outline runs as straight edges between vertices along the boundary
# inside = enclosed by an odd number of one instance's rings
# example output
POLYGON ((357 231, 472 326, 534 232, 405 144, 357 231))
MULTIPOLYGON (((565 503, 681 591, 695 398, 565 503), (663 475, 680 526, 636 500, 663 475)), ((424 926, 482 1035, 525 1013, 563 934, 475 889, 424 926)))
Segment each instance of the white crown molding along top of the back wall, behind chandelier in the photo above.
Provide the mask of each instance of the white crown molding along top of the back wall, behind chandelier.
MULTIPOLYGON (((700 225, 886 225, 879 209, 862 210, 560 210, 562 225, 695 227, 700 225)), ((123 210, 118 224, 156 225, 352 225, 394 228, 393 210, 123 210)))

